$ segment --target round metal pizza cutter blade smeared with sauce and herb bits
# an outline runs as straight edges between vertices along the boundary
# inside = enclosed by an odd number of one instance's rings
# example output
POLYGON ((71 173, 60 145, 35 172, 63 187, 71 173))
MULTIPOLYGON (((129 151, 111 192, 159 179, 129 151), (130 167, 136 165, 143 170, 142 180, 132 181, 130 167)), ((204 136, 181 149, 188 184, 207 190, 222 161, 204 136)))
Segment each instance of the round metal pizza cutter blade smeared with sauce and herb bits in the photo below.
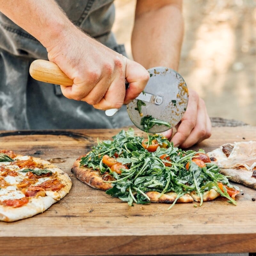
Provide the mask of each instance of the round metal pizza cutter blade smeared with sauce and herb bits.
MULTIPOLYGON (((148 69, 150 78, 144 92, 127 105, 128 115, 135 126, 145 131, 141 124, 141 118, 152 116, 153 118, 166 121, 171 128, 178 124, 184 115, 188 105, 188 88, 179 73, 171 68, 156 67, 148 69), (138 111, 138 100, 141 112, 138 111)), ((159 133, 169 130, 165 125, 154 125, 148 130, 150 133, 159 133)))

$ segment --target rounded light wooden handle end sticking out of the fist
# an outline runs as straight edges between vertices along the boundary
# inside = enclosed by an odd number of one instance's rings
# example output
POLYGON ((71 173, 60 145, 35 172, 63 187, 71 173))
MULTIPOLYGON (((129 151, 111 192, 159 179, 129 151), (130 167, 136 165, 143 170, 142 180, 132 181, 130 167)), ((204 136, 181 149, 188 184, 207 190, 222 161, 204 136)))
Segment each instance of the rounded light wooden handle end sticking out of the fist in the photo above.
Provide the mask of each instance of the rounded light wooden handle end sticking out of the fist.
POLYGON ((50 84, 73 84, 73 80, 66 76, 57 64, 48 60, 34 60, 30 65, 29 74, 38 81, 50 84))

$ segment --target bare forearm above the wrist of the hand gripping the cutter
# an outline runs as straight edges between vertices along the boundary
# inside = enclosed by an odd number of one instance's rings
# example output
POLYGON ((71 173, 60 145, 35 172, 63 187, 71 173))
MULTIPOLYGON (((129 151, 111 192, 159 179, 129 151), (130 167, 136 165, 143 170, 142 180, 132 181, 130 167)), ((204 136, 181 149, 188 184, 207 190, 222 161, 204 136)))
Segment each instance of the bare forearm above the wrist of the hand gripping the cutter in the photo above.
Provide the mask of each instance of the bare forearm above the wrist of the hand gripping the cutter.
POLYGON ((57 40, 64 28, 74 26, 54 0, 0 0, 0 12, 45 47, 57 40))

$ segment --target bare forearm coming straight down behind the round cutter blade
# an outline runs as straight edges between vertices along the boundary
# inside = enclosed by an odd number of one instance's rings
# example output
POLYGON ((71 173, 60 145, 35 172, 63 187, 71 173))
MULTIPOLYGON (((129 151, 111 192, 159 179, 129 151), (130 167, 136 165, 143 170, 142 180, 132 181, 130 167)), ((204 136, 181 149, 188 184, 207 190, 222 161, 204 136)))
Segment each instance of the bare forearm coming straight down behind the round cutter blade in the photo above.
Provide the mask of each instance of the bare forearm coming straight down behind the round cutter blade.
POLYGON ((182 39, 181 5, 164 5, 141 13, 140 2, 137 3, 132 32, 135 61, 145 68, 165 66, 177 70, 182 39))

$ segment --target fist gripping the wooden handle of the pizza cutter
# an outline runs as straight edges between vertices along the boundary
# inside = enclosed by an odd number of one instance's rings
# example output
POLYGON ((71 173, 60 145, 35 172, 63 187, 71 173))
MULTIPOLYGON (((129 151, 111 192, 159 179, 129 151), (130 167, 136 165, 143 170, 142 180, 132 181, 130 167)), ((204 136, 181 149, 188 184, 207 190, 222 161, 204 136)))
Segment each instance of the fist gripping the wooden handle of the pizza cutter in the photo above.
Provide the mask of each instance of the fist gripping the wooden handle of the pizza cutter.
POLYGON ((86 101, 98 109, 120 108, 136 98, 149 74, 139 63, 128 60, 98 41, 71 27, 46 47, 48 58, 74 81, 61 85, 65 97, 86 101), (125 91, 125 79, 130 83, 125 91))

